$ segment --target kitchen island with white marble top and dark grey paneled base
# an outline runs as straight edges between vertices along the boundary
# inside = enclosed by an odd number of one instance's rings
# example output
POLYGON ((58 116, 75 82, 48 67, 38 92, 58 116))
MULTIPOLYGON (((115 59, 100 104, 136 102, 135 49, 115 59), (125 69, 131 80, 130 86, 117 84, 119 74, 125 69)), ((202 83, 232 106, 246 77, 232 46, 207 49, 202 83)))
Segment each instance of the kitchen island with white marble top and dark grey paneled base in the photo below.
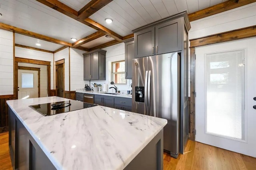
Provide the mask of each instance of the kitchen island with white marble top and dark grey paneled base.
POLYGON ((68 100, 52 96, 7 101, 14 169, 163 169, 167 120, 104 106, 52 116, 28 107, 68 100))

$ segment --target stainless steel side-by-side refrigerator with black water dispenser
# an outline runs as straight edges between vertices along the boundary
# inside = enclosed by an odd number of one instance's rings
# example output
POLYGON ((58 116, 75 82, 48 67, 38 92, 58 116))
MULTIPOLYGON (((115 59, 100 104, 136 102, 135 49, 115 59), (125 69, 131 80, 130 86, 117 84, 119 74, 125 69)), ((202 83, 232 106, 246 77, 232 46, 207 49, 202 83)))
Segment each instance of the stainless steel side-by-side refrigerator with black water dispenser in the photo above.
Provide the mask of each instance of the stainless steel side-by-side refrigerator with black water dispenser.
POLYGON ((180 152, 180 140, 184 141, 180 131, 180 60, 177 52, 132 60, 132 112, 168 120, 164 150, 175 158, 180 152))

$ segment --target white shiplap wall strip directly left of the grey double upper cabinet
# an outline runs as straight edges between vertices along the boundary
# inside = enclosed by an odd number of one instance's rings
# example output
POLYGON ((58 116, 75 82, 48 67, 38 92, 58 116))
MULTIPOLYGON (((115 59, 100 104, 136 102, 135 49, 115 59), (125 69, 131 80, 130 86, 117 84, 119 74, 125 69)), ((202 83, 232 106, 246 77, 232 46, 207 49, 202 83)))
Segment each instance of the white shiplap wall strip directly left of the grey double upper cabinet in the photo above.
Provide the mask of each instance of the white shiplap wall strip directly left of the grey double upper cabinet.
POLYGON ((84 56, 85 51, 70 48, 70 90, 84 88, 84 56))

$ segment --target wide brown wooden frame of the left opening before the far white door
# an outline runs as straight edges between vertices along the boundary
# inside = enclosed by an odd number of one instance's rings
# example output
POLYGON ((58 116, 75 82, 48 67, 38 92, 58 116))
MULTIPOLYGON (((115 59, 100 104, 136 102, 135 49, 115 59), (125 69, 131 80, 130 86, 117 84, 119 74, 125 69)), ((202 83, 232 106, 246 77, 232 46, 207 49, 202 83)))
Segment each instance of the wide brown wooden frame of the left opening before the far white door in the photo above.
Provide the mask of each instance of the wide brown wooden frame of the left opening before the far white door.
POLYGON ((47 66, 47 92, 48 92, 48 96, 50 96, 51 62, 15 57, 14 58, 14 99, 18 99, 18 62, 31 63, 31 64, 40 64, 40 65, 46 65, 47 66))

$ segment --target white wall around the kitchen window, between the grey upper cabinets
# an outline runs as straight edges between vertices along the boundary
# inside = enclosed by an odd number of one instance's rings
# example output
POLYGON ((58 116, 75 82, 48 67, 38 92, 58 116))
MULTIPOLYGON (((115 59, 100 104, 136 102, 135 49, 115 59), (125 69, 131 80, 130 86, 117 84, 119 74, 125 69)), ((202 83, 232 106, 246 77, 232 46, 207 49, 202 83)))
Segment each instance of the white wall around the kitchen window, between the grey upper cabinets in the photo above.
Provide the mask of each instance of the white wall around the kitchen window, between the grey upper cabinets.
MULTIPOLYGON (((91 81, 91 83, 97 83, 97 84, 108 84, 108 88, 110 88, 111 85, 111 62, 115 61, 121 61, 124 60, 124 43, 116 44, 114 46, 110 46, 107 48, 103 48, 103 50, 106 50, 106 81, 105 80, 97 80, 97 81, 91 81)), ((132 80, 127 80, 126 85, 116 85, 117 89, 121 91, 121 93, 126 93, 127 90, 131 90, 132 88, 129 86, 132 83, 132 80)), ((112 92, 112 89, 108 89, 108 92, 112 92)), ((113 91, 114 92, 114 91, 113 91)))

